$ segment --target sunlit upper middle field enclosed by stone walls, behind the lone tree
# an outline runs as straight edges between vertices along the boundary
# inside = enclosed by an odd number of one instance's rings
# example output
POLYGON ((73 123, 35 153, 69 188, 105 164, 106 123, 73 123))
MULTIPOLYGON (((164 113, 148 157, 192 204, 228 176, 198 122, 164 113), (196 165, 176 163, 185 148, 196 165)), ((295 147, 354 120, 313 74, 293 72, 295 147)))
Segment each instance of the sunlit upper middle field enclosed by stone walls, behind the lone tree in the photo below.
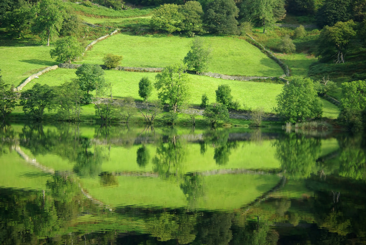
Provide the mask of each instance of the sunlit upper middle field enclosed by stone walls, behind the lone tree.
MULTIPOLYGON (((78 63, 102 64, 107 53, 122 55, 122 66, 165 67, 183 60, 192 38, 121 33, 97 43, 78 63)), ((208 70, 228 75, 280 76, 280 66, 258 48, 238 37, 205 37, 212 48, 208 70)))

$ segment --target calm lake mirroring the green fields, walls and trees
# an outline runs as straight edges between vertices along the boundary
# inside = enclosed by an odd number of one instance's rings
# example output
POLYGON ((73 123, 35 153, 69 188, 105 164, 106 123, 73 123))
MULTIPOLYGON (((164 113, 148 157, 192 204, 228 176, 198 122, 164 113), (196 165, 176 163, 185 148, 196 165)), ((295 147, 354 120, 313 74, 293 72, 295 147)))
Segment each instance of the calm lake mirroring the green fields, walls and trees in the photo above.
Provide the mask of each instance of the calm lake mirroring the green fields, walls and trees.
POLYGON ((362 135, 12 124, 0 244, 365 244, 362 135))

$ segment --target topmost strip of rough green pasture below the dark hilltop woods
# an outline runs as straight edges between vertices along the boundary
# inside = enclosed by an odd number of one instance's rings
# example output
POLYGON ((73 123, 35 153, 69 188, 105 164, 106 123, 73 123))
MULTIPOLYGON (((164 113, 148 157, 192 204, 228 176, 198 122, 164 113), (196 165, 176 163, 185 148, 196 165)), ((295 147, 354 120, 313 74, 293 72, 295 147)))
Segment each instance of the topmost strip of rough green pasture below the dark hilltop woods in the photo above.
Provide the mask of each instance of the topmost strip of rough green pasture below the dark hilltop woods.
POLYGON ((84 16, 97 16, 99 18, 129 18, 129 17, 139 17, 139 16, 146 16, 152 14, 154 8, 134 8, 128 10, 114 10, 113 8, 107 7, 98 7, 93 5, 92 7, 86 7, 82 4, 76 4, 67 2, 70 7, 74 8, 74 10, 79 15, 84 16))

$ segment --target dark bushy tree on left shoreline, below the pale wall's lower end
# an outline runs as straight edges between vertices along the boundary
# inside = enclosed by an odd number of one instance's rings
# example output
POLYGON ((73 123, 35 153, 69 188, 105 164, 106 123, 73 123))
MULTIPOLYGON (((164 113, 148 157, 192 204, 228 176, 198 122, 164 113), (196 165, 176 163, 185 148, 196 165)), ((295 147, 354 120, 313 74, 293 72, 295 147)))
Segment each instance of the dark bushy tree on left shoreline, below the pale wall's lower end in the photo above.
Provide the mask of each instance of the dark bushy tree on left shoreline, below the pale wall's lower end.
POLYGON ((33 88, 22 92, 20 96, 20 106, 26 115, 37 120, 41 119, 45 108, 53 108, 55 93, 48 85, 34 84, 33 88))

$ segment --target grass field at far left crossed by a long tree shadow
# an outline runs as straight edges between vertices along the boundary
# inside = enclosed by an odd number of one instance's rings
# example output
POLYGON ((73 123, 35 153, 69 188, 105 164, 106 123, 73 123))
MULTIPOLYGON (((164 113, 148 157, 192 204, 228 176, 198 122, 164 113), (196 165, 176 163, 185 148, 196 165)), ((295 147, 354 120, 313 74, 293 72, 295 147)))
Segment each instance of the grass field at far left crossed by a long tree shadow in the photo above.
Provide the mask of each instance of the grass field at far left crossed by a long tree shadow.
POLYGON ((0 47, 0 69, 5 83, 18 86, 30 75, 57 64, 51 59, 52 47, 0 47))

